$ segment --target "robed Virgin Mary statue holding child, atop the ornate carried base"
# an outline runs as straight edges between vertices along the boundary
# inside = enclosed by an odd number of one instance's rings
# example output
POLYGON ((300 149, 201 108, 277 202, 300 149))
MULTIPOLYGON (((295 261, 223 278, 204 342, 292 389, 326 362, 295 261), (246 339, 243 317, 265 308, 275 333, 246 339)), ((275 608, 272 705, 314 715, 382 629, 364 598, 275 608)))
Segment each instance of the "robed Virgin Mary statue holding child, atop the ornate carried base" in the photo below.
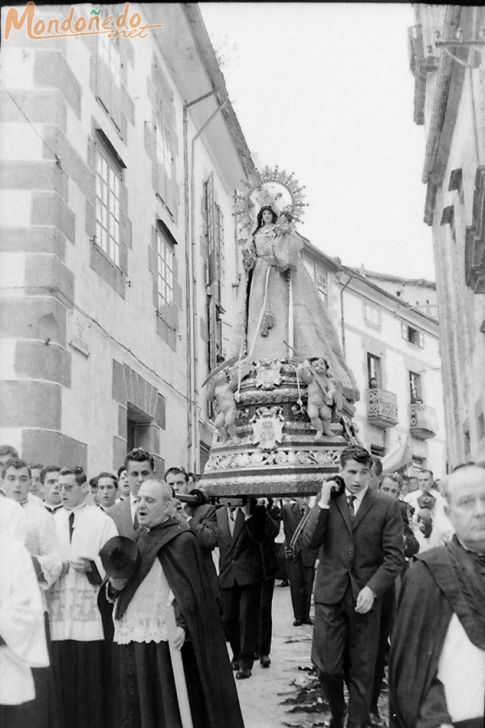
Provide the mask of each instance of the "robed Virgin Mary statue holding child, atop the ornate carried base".
POLYGON ((229 358, 239 361, 288 361, 322 358, 344 396, 359 391, 347 367, 330 320, 302 255, 303 238, 284 211, 274 206, 258 212, 245 241, 243 274, 229 358))

